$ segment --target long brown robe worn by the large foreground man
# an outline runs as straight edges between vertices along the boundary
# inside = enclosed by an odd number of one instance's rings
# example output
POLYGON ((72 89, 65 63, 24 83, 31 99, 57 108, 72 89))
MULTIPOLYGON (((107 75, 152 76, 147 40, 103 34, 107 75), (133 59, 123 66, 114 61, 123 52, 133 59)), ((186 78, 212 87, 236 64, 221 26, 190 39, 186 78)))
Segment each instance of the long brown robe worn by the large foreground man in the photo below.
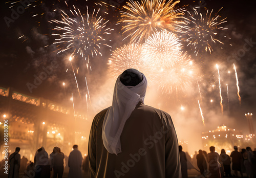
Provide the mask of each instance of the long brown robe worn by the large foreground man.
POLYGON ((176 131, 170 116, 139 103, 127 119, 120 140, 122 152, 109 153, 102 141, 108 108, 93 120, 89 138, 91 177, 181 177, 176 131))

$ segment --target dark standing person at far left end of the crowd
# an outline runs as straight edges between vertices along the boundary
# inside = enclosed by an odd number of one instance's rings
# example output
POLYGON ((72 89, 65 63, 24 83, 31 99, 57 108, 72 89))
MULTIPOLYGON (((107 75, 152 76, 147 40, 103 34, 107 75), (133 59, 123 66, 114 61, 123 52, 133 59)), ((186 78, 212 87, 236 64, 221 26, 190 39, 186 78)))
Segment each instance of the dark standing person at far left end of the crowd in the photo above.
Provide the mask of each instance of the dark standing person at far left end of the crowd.
POLYGON ((15 148, 15 152, 12 153, 9 157, 8 163, 10 164, 8 178, 18 178, 19 176, 19 168, 20 168, 20 154, 18 153, 20 150, 19 147, 15 148))

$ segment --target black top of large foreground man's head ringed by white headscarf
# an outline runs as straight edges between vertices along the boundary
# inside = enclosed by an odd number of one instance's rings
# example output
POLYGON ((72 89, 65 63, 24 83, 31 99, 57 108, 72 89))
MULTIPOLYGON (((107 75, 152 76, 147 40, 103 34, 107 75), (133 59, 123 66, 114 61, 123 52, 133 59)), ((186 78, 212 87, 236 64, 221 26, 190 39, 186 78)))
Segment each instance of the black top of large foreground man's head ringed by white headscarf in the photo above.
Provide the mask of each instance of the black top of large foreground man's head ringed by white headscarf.
POLYGON ((125 86, 136 86, 143 80, 143 75, 136 69, 127 69, 123 71, 120 81, 125 86))

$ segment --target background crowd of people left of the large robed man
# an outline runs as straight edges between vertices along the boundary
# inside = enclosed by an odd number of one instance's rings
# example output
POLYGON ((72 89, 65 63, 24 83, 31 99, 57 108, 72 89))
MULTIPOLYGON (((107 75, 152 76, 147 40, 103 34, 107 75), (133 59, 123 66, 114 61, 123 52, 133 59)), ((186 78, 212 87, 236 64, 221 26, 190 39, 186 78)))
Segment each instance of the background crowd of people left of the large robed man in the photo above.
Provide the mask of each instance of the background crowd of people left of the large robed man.
MULTIPOLYGON (((54 147, 50 155, 44 147, 40 147, 34 155, 33 162, 24 155, 20 159, 19 151, 20 148, 16 147, 15 152, 9 155, 8 178, 62 178, 65 169, 68 170, 69 178, 81 178, 82 170, 89 172, 88 157, 82 158, 78 145, 73 146, 69 156, 61 152, 59 147, 54 147)), ((1 162, 1 166, 4 163, 5 160, 1 162)))

